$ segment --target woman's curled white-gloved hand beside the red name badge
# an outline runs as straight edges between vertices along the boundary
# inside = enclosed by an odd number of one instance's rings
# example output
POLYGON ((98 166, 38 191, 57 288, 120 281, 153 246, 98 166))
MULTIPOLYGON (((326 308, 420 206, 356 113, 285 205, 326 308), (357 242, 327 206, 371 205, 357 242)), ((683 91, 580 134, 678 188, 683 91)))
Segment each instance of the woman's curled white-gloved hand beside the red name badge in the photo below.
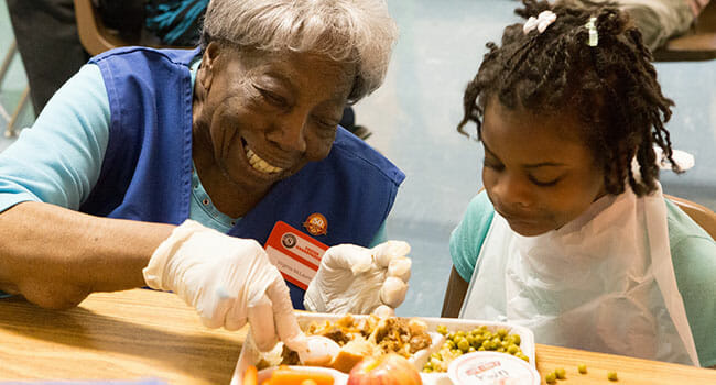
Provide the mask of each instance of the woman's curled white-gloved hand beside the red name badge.
POLYGON ((329 248, 308 284, 303 305, 311 311, 365 315, 394 314, 405 299, 410 245, 383 242, 373 249, 355 244, 329 248))

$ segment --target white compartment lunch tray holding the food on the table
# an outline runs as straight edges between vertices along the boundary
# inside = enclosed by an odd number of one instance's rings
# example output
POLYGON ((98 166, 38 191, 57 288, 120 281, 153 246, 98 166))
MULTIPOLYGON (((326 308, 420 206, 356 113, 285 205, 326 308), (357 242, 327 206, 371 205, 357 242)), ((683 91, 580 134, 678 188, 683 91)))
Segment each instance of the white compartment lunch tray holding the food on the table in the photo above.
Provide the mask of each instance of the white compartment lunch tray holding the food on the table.
MULTIPOLYGON (((314 321, 332 321, 335 322, 343 318, 341 315, 328 315, 321 312, 300 312, 296 314, 299 320, 299 326, 301 329, 306 329, 311 322, 314 321)), ((368 316, 354 316, 356 319, 366 318, 368 316)), ((534 366, 534 334, 532 331, 525 327, 521 327, 512 323, 505 322, 491 322, 491 321, 480 321, 480 320, 468 320, 468 319, 458 319, 458 318, 436 318, 436 317, 413 317, 424 321, 427 324, 427 331, 433 337, 433 343, 430 348, 422 350, 415 353, 414 358, 411 358, 413 364, 417 370, 422 370, 423 365, 427 362, 430 354, 440 350, 443 344, 444 339, 442 334, 435 332, 438 324, 443 324, 447 328, 448 331, 458 331, 464 330, 468 331, 474 328, 486 326, 489 331, 496 332, 498 329, 506 329, 511 334, 520 336, 520 348, 522 353, 530 359, 530 365, 534 366), (437 340, 436 337, 441 339, 437 340)), ((274 352, 281 352, 281 343, 279 346, 274 348, 274 352)), ((256 349, 256 345, 251 341, 251 333, 247 334, 247 339, 241 349, 241 354, 239 355, 239 361, 236 363, 236 369, 234 370, 234 378, 231 380, 231 385, 242 385, 243 372, 249 367, 249 365, 256 365, 261 360, 262 354, 256 349)), ((315 367, 315 366, 300 366, 300 367, 311 367, 319 372, 329 373, 336 378, 335 385, 345 385, 348 381, 348 375, 327 367, 315 367)), ((268 367, 259 372, 259 384, 271 376, 275 367, 268 367)), ((421 373, 424 385, 453 385, 453 382, 447 377, 447 373, 421 373)))

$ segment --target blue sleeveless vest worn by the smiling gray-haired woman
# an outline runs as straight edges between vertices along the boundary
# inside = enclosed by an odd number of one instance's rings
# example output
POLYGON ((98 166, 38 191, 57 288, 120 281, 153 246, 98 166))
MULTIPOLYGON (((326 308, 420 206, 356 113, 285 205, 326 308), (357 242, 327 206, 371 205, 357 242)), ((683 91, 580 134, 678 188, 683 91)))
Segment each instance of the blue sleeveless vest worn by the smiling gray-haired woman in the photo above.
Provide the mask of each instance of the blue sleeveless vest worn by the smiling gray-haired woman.
MULTIPOLYGON (((95 56, 111 122, 97 185, 80 211, 95 216, 180 224, 192 195, 192 81, 197 50, 126 47, 95 56)), ((328 156, 273 186, 229 231, 264 244, 276 221, 302 228, 322 213, 335 245, 368 245, 392 208, 404 174, 364 141, 338 128, 328 156)), ((289 284, 294 308, 304 292, 289 284)))

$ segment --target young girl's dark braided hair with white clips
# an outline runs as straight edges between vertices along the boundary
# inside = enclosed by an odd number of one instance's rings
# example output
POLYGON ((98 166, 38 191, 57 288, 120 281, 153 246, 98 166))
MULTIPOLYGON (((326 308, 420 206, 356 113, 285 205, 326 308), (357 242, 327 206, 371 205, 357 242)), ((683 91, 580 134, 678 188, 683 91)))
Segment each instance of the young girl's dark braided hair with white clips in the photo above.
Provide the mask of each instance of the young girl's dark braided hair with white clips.
MULTIPOLYGON (((584 2, 584 1, 583 1, 584 2)), ((621 194, 625 180, 638 196, 657 188, 659 166, 654 144, 674 172, 669 131, 674 102, 661 94, 651 53, 629 16, 614 4, 571 7, 566 1, 522 0, 523 18, 551 10, 557 18, 543 33, 524 34, 522 24, 509 25, 502 46, 490 42, 489 52, 464 96, 465 116, 457 130, 466 134, 468 122, 480 135, 488 100, 508 109, 524 108, 554 114, 574 106, 582 136, 605 172, 609 194, 621 194), (590 18, 596 18, 598 44, 589 46, 590 18), (639 164, 634 177, 631 162, 639 164)))

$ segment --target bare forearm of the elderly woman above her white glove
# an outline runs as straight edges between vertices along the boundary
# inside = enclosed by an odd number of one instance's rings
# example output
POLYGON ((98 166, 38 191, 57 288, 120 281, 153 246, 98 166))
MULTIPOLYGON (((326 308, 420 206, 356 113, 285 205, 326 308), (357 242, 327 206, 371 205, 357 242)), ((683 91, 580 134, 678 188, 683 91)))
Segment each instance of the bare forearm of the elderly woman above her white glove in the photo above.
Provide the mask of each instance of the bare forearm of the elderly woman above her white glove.
POLYGON ((144 285, 142 268, 174 227, 108 219, 41 202, 0 213, 0 289, 48 308, 144 285))

